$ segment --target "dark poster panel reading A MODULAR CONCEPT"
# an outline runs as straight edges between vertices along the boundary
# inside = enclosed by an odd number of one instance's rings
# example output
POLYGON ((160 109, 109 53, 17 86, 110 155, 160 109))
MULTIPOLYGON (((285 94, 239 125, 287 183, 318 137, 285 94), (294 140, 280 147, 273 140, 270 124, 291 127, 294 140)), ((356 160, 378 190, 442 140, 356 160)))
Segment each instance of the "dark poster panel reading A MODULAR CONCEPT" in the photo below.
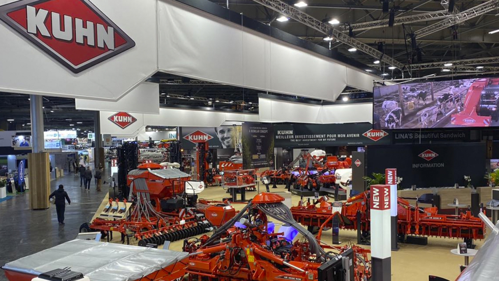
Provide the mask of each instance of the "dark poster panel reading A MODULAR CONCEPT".
POLYGON ((272 124, 242 124, 242 159, 244 169, 274 167, 272 124))

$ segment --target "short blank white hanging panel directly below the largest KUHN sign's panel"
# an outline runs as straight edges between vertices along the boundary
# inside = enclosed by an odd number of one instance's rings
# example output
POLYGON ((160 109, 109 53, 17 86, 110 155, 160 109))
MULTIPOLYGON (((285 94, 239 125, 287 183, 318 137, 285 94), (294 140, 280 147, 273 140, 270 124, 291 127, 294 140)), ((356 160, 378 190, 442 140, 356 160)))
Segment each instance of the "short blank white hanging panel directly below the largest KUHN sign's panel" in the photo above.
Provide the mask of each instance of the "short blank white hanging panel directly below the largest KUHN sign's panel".
POLYGON ((143 82, 117 102, 75 99, 76 109, 159 114, 159 84, 143 82))

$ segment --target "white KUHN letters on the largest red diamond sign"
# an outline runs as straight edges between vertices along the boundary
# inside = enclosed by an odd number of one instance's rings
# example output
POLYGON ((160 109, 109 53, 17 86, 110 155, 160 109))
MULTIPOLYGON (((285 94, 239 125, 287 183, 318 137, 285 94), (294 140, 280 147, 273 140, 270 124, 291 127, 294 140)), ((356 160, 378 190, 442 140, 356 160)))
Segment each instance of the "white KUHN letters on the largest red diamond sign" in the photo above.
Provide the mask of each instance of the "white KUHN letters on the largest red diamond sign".
MULTIPOLYGON (((76 43, 84 44, 84 38, 87 38, 87 45, 95 46, 95 41, 97 41, 97 47, 104 48, 105 46, 109 50, 115 49, 115 30, 112 26, 108 26, 107 29, 104 25, 97 23, 94 24, 92 21, 85 21, 82 19, 73 18, 68 15, 63 15, 64 21, 64 31, 61 28, 61 15, 56 12, 50 13, 52 19, 52 36, 59 40, 71 41, 74 40, 76 43), (84 27, 84 25, 86 27, 84 27), (95 25, 95 28, 94 28, 95 25), (95 32, 95 30, 97 32, 95 32), (97 35, 95 34, 97 33, 97 35)), ((52 37, 48 32, 45 22, 48 18, 48 11, 44 9, 38 9, 38 12, 33 6, 26 6, 26 18, 27 18, 27 32, 31 34, 37 34, 37 31, 45 37, 52 37)))

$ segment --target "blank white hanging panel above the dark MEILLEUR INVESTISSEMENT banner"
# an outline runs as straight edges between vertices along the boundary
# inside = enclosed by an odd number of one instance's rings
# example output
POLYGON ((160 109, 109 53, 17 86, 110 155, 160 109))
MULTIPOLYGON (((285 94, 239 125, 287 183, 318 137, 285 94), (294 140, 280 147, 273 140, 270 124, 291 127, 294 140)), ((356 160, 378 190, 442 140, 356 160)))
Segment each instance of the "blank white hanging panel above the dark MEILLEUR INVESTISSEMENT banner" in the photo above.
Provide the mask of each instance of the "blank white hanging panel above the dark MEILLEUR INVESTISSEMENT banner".
POLYGON ((344 105, 310 105, 259 98, 262 122, 356 123, 372 122, 372 103, 344 105))

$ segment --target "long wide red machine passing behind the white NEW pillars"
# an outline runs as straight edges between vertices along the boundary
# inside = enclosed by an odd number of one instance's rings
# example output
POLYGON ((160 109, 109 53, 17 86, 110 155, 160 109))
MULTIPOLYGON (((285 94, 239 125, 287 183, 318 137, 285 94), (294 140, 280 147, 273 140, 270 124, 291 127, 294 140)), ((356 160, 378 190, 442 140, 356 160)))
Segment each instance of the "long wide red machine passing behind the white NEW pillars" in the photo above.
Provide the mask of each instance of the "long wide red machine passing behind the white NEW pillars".
MULTIPOLYGON (((341 208, 341 212, 333 212, 327 197, 321 197, 315 202, 310 199, 300 200, 298 206, 291 207, 293 218, 309 230, 321 227, 331 216, 339 215, 342 229, 356 230, 362 237, 369 236, 370 210, 369 191, 349 198, 341 208)), ((332 220, 326 223, 332 227, 332 220)), ((398 234, 436 236, 449 238, 483 239, 485 225, 478 218, 466 211, 459 215, 438 214, 436 207, 421 208, 409 204, 407 200, 398 198, 398 234)), ((360 242, 360 241, 359 241, 360 242)))

